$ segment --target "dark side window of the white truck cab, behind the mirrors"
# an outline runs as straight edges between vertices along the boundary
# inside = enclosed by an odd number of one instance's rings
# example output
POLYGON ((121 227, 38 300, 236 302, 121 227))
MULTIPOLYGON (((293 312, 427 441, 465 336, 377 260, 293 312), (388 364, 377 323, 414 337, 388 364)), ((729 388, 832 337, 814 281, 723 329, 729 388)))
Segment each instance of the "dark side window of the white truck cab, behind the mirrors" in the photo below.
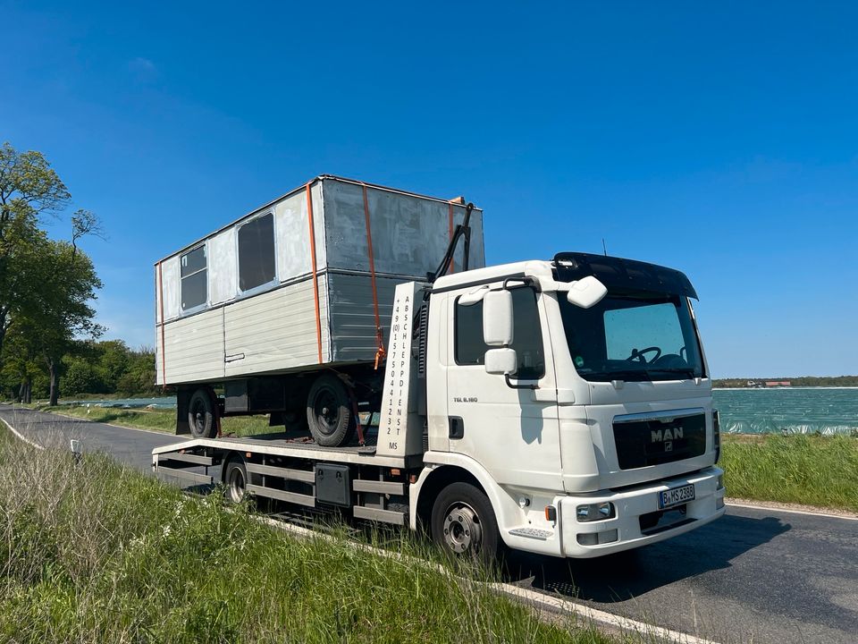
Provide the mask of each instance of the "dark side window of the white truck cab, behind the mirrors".
MULTIPOLYGON (((512 289, 514 309, 512 349, 518 359, 517 378, 534 380, 545 375, 543 332, 532 288, 512 289)), ((481 365, 492 347, 483 342, 483 302, 471 306, 456 304, 454 356, 458 365, 481 365)))

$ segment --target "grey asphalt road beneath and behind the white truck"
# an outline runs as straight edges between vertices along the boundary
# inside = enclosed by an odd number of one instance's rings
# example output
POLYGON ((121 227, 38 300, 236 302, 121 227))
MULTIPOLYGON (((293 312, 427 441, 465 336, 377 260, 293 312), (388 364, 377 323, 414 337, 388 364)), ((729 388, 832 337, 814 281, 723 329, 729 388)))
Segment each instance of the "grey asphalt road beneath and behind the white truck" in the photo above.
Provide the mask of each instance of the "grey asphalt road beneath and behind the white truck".
MULTIPOLYGON (((0 405, 38 444, 82 442, 151 471, 181 437, 0 405)), ((510 581, 719 642, 858 643, 858 521, 729 506, 707 526, 653 546, 575 561, 522 555, 510 581)))

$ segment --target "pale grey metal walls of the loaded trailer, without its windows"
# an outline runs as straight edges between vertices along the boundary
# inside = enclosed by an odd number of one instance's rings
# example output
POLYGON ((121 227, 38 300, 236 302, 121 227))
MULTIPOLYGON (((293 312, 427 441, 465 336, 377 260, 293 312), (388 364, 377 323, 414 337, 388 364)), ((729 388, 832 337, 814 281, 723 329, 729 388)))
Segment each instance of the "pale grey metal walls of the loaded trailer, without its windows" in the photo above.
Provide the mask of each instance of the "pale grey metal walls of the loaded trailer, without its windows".
MULTIPOLYGON (((324 176, 311 183, 318 284, 316 331, 307 188, 292 191, 156 264, 158 384, 217 381, 374 360, 370 276, 372 237, 384 342, 396 284, 423 280, 441 261, 465 208, 360 182, 324 176), (370 230, 366 230, 366 206, 370 230), (240 226, 273 213, 275 281, 242 294, 240 226), (182 310, 181 257, 205 247, 206 302, 182 310), (165 349, 165 351, 164 351, 165 349)), ((483 214, 471 216, 471 267, 484 267, 483 214)), ((454 270, 461 269, 459 245, 454 270)))

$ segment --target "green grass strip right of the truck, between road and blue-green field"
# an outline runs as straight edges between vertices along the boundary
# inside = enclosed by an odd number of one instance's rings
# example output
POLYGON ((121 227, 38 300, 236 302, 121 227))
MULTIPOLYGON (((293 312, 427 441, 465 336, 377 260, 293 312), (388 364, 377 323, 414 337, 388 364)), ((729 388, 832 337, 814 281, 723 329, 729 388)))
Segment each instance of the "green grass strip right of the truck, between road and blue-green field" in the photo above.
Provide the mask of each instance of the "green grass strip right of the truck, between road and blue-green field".
POLYGON ((858 438, 722 435, 728 496, 858 513, 858 438))

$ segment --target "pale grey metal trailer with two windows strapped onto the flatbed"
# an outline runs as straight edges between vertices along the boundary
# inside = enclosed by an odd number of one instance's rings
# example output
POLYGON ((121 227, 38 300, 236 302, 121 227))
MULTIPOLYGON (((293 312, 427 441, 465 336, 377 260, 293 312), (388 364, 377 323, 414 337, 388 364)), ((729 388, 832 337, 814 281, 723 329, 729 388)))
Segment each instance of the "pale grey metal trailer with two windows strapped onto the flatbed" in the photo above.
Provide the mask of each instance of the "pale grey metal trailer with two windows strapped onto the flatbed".
MULTIPOLYGON (((158 261, 156 382, 178 386, 177 431, 252 413, 301 428, 310 393, 320 412, 377 399, 394 289, 437 269, 465 215, 461 199, 323 175, 158 261)), ((468 228, 453 272, 484 267, 482 211, 468 228)), ((309 419, 319 442, 349 436, 348 419, 309 419)))

